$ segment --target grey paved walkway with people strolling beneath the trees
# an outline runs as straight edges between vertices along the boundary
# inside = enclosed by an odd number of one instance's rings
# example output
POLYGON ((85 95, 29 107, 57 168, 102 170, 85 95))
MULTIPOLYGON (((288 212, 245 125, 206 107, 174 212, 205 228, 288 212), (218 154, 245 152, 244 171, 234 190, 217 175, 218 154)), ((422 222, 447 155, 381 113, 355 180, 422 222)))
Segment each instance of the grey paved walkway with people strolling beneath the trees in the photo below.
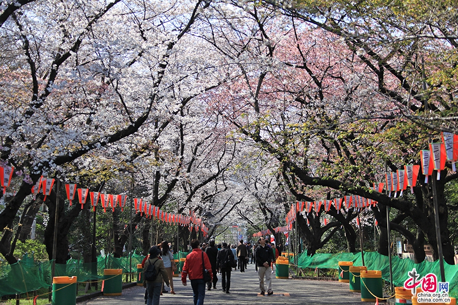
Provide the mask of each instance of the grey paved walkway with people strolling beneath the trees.
MULTIPOLYGON (((164 293, 160 298, 160 305, 193 305, 192 289, 188 279, 188 286, 181 284, 181 278, 174 278, 175 292, 171 295, 164 293)), ((310 281, 276 279, 272 275, 273 295, 259 294, 259 280, 254 272, 254 265, 248 265, 246 272, 233 271, 231 275, 231 293, 226 294, 221 289, 221 277, 218 275, 218 289, 206 291, 206 304, 222 305, 254 305, 254 304, 301 304, 301 305, 374 305, 374 302, 361 302, 361 294, 350 292, 347 283, 335 281, 310 281)), ((78 305, 130 305, 144 304, 145 288, 135 286, 124 289, 121 296, 101 296, 78 305)))

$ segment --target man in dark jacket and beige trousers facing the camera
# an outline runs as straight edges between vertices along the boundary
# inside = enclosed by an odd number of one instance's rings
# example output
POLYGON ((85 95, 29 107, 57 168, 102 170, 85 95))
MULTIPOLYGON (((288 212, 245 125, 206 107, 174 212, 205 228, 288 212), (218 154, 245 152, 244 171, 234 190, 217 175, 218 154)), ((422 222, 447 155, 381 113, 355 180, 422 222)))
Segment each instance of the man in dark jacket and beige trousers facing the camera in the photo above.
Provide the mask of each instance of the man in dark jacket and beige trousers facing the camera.
POLYGON ((259 246, 257 246, 255 252, 255 260, 257 266, 257 275, 259 276, 259 288, 261 289, 261 294, 266 293, 266 288, 264 286, 264 276, 266 277, 267 284, 267 295, 273 294, 272 291, 272 280, 271 272, 272 269, 270 264, 273 261, 273 252, 272 249, 266 245, 266 240, 264 237, 259 238, 259 246))

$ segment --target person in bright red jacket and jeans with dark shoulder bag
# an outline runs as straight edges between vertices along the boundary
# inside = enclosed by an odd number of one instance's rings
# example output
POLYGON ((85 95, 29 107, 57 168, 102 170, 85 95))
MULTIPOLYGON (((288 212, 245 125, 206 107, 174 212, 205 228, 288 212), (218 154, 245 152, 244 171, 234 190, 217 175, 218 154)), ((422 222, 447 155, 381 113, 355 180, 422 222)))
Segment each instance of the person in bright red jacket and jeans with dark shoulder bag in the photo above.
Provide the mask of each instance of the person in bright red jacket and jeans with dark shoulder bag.
POLYGON ((213 278, 212 265, 206 253, 199 248, 197 239, 191 240, 191 253, 186 256, 186 261, 181 272, 181 281, 186 286, 186 277, 191 281, 192 292, 194 295, 194 305, 203 305, 205 298, 204 269, 213 278))

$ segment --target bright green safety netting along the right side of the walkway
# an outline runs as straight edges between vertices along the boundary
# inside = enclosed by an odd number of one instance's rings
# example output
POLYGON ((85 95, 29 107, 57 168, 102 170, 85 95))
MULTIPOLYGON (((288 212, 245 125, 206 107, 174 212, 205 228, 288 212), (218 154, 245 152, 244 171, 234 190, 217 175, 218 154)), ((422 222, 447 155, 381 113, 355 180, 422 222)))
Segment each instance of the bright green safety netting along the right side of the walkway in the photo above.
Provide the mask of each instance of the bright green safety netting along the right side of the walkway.
MULTIPOLYGON (((338 268, 338 262, 348 261, 353 262, 354 266, 362 266, 361 253, 338 253, 327 254, 317 253, 313 256, 302 254, 298 257, 298 266, 300 268, 338 268)), ((439 261, 428 262, 423 261, 419 264, 414 263, 411 259, 402 259, 393 256, 392 263, 392 277, 393 285, 396 287, 404 286, 404 282, 409 278, 408 272, 413 268, 417 273, 423 277, 428 273, 434 273, 438 281, 441 280, 441 272, 439 261)), ((381 270, 382 279, 390 281, 390 266, 387 256, 381 255, 377 252, 364 252, 364 265, 367 270, 381 270)), ((458 296, 458 265, 449 265, 444 262, 445 280, 449 283, 449 295, 453 297, 458 296)))

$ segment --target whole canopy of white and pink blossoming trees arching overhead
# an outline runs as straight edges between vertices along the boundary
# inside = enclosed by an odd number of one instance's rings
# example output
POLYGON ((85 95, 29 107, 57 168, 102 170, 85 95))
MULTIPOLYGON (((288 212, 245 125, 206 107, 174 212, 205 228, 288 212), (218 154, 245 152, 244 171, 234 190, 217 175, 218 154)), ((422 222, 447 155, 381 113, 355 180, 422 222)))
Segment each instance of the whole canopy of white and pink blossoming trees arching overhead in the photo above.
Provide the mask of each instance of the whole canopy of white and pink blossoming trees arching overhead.
MULTIPOLYGON (((63 189, 34 197, 43 175, 127 195, 129 206, 142 198, 195 215, 209 235, 234 223, 272 231, 296 201, 358 195, 377 202, 364 215, 381 226, 394 210, 391 229, 417 261, 426 242, 437 259, 436 176, 425 182, 420 171, 403 196, 374 184, 420 164, 420 150, 444 132, 458 134, 455 13, 451 1, 6 3, 0 161, 15 170, 0 211, 0 253, 16 262, 16 241, 25 242, 45 205, 41 238, 51 256, 56 203, 66 197, 63 189)), ((455 161, 437 180, 449 263, 455 161)), ((359 212, 297 213, 309 253, 340 227, 355 251, 359 212)), ((144 252, 154 235, 189 234, 129 209, 96 213, 106 225, 98 247, 117 256, 135 231, 144 252)), ((65 262, 69 245, 89 242, 94 220, 90 204, 66 201, 58 215, 57 260, 65 262)), ((383 231, 378 251, 388 254, 383 231)))

